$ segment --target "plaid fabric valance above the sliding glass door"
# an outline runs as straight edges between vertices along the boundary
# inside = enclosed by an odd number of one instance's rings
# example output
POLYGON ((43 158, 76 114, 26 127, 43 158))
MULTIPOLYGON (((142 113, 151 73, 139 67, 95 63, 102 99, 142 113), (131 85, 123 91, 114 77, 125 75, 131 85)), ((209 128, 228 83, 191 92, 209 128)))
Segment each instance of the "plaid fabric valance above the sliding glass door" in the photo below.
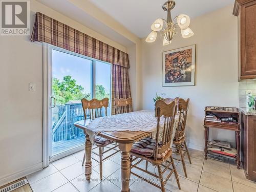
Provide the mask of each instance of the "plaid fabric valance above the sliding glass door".
POLYGON ((37 12, 31 41, 46 42, 75 53, 129 68, 128 54, 37 12))

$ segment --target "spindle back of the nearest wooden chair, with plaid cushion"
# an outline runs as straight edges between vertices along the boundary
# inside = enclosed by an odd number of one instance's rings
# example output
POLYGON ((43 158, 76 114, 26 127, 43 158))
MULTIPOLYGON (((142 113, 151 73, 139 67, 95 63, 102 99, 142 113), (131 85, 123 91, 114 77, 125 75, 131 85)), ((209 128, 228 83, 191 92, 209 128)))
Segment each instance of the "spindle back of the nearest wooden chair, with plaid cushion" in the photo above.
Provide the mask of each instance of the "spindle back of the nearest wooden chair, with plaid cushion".
POLYGON ((166 104, 162 100, 157 100, 155 103, 156 107, 156 117, 157 117, 157 135, 156 135, 156 146, 155 146, 155 159, 157 154, 165 152, 169 147, 172 141, 172 134, 174 129, 174 120, 175 114, 177 111, 177 105, 175 101, 172 101, 169 104, 166 104), (159 143, 160 137, 160 119, 163 116, 164 125, 163 125, 163 134, 162 142, 159 143))

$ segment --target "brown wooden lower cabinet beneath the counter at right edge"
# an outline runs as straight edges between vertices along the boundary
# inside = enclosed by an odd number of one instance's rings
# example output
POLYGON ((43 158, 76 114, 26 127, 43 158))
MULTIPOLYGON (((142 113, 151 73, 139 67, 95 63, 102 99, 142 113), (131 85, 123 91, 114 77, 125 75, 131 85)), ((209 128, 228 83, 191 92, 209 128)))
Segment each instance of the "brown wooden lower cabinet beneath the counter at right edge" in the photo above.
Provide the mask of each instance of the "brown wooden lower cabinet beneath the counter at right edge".
MULTIPOLYGON (((254 111, 254 113, 256 113, 254 111)), ((247 179, 256 181, 256 114, 242 112, 242 165, 247 179)))

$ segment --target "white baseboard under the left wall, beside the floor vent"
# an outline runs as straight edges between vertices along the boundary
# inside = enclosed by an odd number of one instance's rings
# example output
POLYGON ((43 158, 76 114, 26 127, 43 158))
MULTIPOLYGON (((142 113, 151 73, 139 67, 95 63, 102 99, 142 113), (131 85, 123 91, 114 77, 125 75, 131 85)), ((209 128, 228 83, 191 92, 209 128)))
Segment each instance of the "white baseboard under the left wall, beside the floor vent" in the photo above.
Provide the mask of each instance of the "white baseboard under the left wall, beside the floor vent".
POLYGON ((0 178, 0 186, 6 185, 10 182, 16 181, 17 179, 28 176, 29 174, 35 173, 40 169, 42 169, 42 162, 29 166, 23 170, 19 170, 16 173, 5 175, 0 178))

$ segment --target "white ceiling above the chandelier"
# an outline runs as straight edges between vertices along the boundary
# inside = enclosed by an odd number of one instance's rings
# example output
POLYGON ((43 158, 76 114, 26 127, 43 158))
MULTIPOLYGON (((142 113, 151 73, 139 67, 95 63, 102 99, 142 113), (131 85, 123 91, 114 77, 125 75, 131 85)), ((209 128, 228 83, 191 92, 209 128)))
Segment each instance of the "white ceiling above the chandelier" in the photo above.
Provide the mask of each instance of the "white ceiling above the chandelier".
MULTIPOLYGON (((150 33, 150 26, 157 18, 165 18, 162 5, 167 0, 90 0, 119 23, 143 38, 150 33)), ((190 18, 203 15, 230 4, 234 0, 176 0, 172 16, 186 14, 190 18)), ((232 14, 232 13, 230 13, 232 14)))

